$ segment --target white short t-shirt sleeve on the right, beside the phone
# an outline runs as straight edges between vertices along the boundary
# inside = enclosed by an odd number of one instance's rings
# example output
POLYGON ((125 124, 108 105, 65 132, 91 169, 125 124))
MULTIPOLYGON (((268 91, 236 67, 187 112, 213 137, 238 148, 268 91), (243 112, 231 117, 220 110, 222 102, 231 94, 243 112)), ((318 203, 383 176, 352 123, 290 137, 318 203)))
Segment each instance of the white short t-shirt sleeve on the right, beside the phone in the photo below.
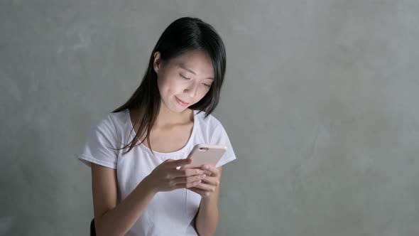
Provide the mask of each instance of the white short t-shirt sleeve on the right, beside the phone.
POLYGON ((222 124, 217 119, 214 119, 213 123, 214 127, 211 129, 212 131, 209 138, 209 144, 227 146, 227 151, 224 153, 222 158, 219 159, 217 165, 215 166, 219 167, 224 166, 230 161, 234 161, 236 159, 236 155, 234 154, 234 150, 230 142, 229 136, 222 124))

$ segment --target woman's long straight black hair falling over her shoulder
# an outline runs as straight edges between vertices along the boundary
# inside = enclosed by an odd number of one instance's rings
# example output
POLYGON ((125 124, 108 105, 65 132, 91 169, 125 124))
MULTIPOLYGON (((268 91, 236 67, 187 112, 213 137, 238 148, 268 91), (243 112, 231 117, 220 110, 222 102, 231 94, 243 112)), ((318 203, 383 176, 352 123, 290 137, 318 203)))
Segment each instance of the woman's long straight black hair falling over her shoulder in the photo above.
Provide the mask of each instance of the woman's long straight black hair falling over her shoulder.
MULTIPOLYGON (((190 50, 204 50, 212 60, 214 68, 214 82, 209 91, 196 104, 189 108, 192 110, 204 111, 205 117, 212 113, 219 102, 222 82, 226 70, 226 52, 224 43, 217 31, 200 18, 183 17, 170 23, 158 39, 156 46, 151 52, 148 68, 143 76, 141 85, 136 89, 129 100, 113 112, 121 112, 124 109, 138 109, 139 115, 135 124, 139 123, 138 130, 133 140, 122 149, 129 147, 128 151, 136 146, 137 141, 146 132, 144 139, 150 144, 150 131, 156 121, 160 109, 160 92, 157 85, 157 73, 153 69, 154 54, 160 52, 162 62, 168 62, 190 50)), ((198 112, 198 113, 199 113, 198 112)), ((135 127, 135 126, 134 126, 135 127)), ((143 140, 144 140, 143 139, 143 140)), ((141 140, 141 143, 143 142, 141 140)), ((140 144, 141 144, 140 143, 140 144)), ((151 149, 152 151, 153 149, 151 149)))

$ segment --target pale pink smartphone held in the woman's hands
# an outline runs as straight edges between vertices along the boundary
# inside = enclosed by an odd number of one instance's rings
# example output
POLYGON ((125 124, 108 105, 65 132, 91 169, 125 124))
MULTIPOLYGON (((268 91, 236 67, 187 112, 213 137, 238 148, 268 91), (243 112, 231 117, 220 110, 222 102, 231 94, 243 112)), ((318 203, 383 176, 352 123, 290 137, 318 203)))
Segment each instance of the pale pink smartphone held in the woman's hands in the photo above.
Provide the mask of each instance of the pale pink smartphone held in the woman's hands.
MULTIPOLYGON (((185 166, 185 168, 200 168, 205 164, 212 166, 217 165, 219 159, 227 151, 227 146, 214 144, 196 144, 187 158, 192 159, 192 163, 185 166)), ((205 171, 209 174, 208 171, 205 171)))

